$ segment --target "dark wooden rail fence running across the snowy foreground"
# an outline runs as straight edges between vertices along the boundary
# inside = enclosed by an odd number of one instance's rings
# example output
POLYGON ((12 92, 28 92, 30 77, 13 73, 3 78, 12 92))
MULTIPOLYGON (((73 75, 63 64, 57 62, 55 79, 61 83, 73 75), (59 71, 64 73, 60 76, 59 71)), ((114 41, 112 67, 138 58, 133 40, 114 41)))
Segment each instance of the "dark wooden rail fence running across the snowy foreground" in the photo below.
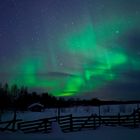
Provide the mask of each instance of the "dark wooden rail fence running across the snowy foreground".
MULTIPOLYGON (((38 119, 33 121, 12 120, 0 122, 7 124, 3 130, 21 130, 24 133, 52 132, 52 123, 58 122, 63 132, 81 131, 85 129, 96 129, 102 125, 125 126, 136 128, 140 126, 140 108, 134 110, 130 115, 101 116, 92 114, 90 116, 73 117, 72 114, 59 117, 38 119), (13 125, 12 125, 13 124, 13 125), (12 129, 9 126, 12 125, 12 129)), ((2 130, 2 128, 0 129, 2 130)))

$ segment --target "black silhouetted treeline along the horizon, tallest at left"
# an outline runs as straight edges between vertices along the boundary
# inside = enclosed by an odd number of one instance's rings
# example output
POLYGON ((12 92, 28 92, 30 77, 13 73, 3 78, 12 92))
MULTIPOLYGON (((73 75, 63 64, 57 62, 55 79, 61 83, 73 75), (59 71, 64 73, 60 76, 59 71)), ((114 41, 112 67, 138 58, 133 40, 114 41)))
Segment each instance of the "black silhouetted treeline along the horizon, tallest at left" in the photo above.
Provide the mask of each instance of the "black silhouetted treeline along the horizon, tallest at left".
POLYGON ((49 93, 40 93, 28 91, 27 87, 18 87, 16 84, 9 86, 8 83, 0 84, 0 110, 27 110, 32 103, 40 103, 45 108, 61 108, 80 105, 100 106, 105 104, 127 104, 140 103, 140 101, 101 101, 98 98, 90 100, 55 97, 49 93))

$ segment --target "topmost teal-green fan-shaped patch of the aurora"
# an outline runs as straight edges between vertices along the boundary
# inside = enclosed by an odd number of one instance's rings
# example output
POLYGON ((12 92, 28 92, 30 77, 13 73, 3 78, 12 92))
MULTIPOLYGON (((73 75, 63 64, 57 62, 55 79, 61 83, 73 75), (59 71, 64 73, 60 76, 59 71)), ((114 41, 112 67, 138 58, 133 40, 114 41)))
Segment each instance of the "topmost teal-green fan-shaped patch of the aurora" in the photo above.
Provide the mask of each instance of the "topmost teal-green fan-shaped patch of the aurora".
POLYGON ((96 37, 92 25, 85 26, 81 30, 72 31, 63 42, 71 53, 89 54, 96 47, 96 37))

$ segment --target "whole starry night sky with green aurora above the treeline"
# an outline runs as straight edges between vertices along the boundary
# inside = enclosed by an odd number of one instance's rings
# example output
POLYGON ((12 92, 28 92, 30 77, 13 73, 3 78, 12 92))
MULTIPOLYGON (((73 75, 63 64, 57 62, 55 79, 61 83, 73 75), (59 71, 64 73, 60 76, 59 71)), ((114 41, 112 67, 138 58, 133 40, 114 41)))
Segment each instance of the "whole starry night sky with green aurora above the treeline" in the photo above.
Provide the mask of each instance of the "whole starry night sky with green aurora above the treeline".
POLYGON ((140 0, 0 0, 0 82, 140 99, 140 0))

